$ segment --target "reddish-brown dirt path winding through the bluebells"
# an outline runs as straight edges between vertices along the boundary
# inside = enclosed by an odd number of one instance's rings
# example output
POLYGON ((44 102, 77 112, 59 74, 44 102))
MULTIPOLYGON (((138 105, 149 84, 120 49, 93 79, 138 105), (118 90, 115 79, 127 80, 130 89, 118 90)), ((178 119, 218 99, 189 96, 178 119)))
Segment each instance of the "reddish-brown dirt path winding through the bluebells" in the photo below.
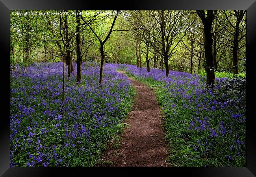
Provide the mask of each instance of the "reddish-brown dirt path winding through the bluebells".
MULTIPOLYGON (((124 72, 120 72, 124 73, 124 72)), ((137 96, 126 123, 121 146, 111 145, 106 150, 104 160, 112 164, 104 167, 161 167, 166 166, 168 147, 164 141, 163 120, 153 89, 128 78, 134 85, 137 96)))

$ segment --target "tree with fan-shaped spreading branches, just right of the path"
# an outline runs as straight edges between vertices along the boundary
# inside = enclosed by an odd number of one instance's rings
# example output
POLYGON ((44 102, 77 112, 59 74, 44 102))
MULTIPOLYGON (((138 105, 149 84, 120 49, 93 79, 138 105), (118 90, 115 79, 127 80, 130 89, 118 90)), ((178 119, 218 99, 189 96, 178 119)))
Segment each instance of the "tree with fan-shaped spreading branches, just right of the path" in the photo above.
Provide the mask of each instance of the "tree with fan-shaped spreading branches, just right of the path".
MULTIPOLYGON (((188 11, 184 10, 151 10, 148 11, 152 17, 155 33, 150 33, 153 40, 148 39, 151 46, 158 51, 165 63, 165 74, 169 75, 169 58, 178 49, 178 44, 186 35, 187 28, 184 28, 188 11), (154 45, 154 40, 157 45, 154 45)), ((162 64, 163 68, 163 64, 162 64)))

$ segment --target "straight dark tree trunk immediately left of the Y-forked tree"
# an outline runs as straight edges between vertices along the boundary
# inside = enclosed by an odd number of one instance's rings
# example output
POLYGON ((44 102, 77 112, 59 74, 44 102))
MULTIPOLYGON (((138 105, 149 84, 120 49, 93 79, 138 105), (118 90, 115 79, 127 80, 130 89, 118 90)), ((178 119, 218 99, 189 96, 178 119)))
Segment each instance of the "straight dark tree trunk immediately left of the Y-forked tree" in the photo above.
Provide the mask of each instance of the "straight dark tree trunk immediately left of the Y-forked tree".
MULTIPOLYGON (((80 11, 81 12, 81 11, 80 11)), ((82 79, 82 57, 81 57, 81 36, 80 36, 80 25, 81 15, 76 10, 76 84, 81 83, 82 79)))

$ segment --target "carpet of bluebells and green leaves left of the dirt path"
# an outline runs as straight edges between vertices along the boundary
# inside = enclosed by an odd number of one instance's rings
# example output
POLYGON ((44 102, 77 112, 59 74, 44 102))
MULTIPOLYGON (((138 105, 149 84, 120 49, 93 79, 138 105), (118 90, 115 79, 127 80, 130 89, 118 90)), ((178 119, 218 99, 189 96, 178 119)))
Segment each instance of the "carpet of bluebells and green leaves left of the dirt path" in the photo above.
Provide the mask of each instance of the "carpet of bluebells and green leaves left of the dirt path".
POLYGON ((102 89, 98 63, 82 65, 79 86, 66 72, 61 113, 62 65, 37 63, 11 73, 11 167, 95 166, 106 142, 122 131, 135 90, 117 65, 104 67, 102 89))

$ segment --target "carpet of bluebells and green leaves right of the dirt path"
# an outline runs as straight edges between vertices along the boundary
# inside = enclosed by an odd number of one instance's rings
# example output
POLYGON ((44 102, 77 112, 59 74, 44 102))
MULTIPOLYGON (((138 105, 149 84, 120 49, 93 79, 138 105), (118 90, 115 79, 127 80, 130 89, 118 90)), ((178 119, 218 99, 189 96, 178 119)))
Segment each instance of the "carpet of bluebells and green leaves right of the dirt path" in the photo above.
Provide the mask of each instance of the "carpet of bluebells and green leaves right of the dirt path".
POLYGON ((185 72, 126 68, 126 74, 156 87, 165 114, 171 166, 246 166, 246 79, 216 78, 205 89, 206 78, 185 72))

